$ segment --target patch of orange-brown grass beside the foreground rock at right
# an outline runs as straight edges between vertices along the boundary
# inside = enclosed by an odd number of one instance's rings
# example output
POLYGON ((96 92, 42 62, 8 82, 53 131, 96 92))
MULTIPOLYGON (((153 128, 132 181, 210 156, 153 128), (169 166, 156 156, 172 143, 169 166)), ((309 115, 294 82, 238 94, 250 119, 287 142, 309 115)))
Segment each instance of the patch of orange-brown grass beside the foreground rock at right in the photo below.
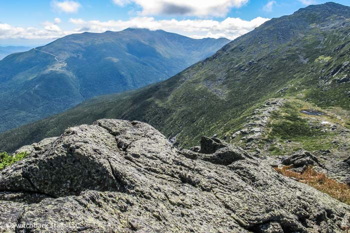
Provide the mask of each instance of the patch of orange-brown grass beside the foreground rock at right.
POLYGON ((312 169, 312 166, 307 167, 303 173, 296 173, 290 171, 291 166, 284 166, 282 168, 274 168, 278 173, 297 179, 299 182, 305 183, 316 190, 328 194, 332 198, 340 202, 350 205, 350 186, 338 183, 333 179, 329 179, 323 173, 317 173, 312 169))

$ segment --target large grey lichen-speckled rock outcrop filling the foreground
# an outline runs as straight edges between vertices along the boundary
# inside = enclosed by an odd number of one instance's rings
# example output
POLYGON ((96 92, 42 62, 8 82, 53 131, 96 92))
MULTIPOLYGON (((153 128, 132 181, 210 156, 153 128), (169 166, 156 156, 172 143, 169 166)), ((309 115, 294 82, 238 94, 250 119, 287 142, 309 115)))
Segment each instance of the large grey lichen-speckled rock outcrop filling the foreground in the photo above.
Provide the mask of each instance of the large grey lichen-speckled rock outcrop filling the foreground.
POLYGON ((0 171, 0 232, 344 232, 350 226, 349 206, 241 148, 206 145, 205 154, 180 152, 141 122, 103 119, 67 129, 0 171))

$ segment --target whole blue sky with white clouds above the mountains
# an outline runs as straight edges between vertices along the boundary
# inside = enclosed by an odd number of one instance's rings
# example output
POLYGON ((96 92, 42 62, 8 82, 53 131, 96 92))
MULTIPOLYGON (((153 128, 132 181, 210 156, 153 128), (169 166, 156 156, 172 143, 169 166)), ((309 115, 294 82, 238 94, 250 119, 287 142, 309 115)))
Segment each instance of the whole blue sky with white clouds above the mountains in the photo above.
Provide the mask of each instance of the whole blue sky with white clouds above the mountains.
MULTIPOLYGON (((333 0, 349 5, 350 0, 333 0)), ((192 38, 236 37, 273 17, 326 0, 0 0, 0 46, 128 27, 192 38)))

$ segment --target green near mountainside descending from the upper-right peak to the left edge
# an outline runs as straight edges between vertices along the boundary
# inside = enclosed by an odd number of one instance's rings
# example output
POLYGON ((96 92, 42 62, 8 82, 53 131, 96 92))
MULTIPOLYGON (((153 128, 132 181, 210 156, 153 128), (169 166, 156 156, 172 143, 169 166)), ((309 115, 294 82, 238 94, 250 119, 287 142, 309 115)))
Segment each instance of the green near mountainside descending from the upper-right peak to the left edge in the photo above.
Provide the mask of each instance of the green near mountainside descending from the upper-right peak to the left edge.
POLYGON ((177 135, 181 146, 191 146, 201 135, 235 132, 254 104, 279 97, 276 92, 287 85, 293 86, 290 96, 348 111, 349 83, 334 81, 348 71, 326 76, 350 60, 349 9, 327 3, 272 19, 169 80, 93 99, 8 131, 0 135, 0 150, 11 151, 99 118, 145 121, 169 137, 177 135))

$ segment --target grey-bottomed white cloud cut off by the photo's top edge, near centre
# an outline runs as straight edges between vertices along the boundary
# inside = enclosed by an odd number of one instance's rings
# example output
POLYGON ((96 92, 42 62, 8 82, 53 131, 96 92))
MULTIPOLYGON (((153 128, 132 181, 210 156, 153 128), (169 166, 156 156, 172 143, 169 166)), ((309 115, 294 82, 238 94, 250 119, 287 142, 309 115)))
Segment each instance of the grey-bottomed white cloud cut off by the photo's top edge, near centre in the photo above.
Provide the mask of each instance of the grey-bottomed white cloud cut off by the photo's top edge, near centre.
POLYGON ((224 16, 230 8, 239 8, 249 0, 113 0, 123 6, 131 2, 142 8, 142 15, 224 16))

